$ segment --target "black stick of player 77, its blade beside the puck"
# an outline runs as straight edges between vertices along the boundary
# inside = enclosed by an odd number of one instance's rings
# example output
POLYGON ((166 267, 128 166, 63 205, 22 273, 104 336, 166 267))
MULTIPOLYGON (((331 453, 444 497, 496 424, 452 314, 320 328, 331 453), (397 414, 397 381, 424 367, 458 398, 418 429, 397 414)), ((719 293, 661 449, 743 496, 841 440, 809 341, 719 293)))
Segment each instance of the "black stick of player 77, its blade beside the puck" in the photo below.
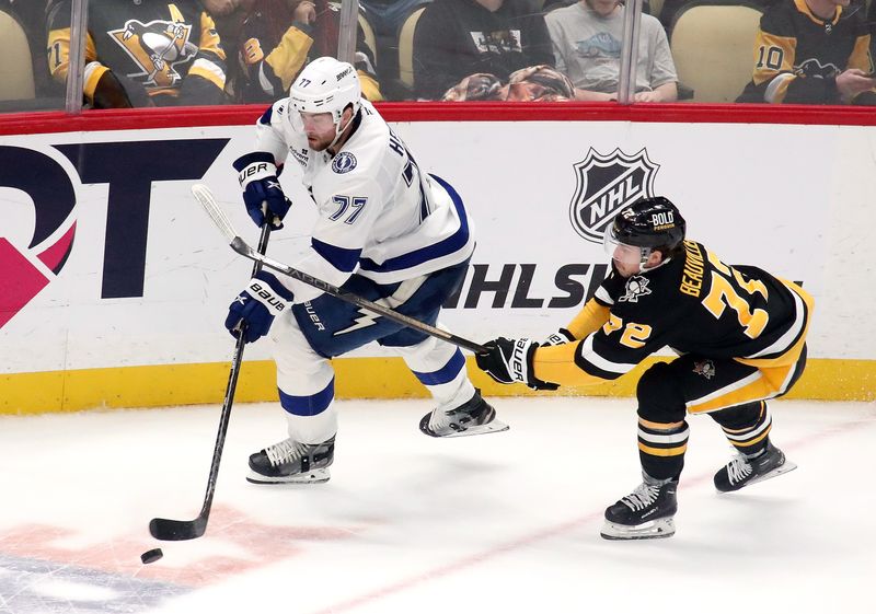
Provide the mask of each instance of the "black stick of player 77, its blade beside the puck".
MULTIPOLYGON (((192 186, 192 194, 198 201, 204 198, 203 190, 206 186, 192 186)), ((208 198, 212 196, 207 193, 208 198)), ((262 235, 258 238, 258 254, 264 254, 267 250, 267 240, 270 236, 270 224, 262 227, 262 235)), ((258 260, 253 265, 253 277, 262 269, 258 260)), ((216 436, 216 445, 212 450, 212 461, 210 462, 210 476, 207 478, 207 494, 204 496, 204 506, 195 520, 170 520, 166 518, 153 518, 149 522, 149 532, 155 540, 164 542, 177 542, 182 540, 195 540, 204 535, 207 530, 207 520, 210 517, 212 507, 212 496, 216 493, 216 479, 219 475, 219 462, 222 460, 222 448, 226 444, 226 433, 228 432, 228 421, 231 417, 231 404, 234 403, 234 390, 238 387, 238 375, 240 374, 241 362, 243 361, 243 347, 246 345, 244 339, 244 328, 239 331, 238 343, 234 346, 234 356, 231 359, 231 372, 228 374, 228 385, 226 386, 226 397, 222 402, 222 413, 219 417, 219 432, 216 436)))

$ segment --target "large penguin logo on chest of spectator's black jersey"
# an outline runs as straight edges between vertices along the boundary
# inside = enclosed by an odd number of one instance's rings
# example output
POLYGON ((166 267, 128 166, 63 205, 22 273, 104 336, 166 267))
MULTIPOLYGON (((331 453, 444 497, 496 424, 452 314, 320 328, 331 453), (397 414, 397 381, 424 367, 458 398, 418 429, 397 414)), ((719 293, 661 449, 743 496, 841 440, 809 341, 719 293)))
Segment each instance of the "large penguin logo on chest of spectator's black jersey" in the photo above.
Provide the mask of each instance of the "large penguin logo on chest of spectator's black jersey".
POLYGON ((128 77, 145 78, 142 83, 147 88, 177 86, 183 77, 176 67, 192 61, 198 53, 198 46, 191 42, 192 25, 184 22, 178 10, 171 8, 172 21, 128 20, 125 27, 108 32, 140 67, 141 72, 128 77))

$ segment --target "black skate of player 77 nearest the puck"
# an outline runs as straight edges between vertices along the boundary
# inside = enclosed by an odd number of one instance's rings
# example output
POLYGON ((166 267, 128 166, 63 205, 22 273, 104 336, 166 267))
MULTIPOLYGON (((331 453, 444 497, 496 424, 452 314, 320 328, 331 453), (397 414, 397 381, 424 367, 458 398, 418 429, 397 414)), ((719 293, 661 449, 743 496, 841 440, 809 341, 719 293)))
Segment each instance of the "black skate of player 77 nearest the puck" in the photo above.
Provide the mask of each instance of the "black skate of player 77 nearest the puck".
POLYGON ((322 443, 286 439, 250 456, 247 482, 253 484, 319 484, 328 482, 335 438, 322 443))

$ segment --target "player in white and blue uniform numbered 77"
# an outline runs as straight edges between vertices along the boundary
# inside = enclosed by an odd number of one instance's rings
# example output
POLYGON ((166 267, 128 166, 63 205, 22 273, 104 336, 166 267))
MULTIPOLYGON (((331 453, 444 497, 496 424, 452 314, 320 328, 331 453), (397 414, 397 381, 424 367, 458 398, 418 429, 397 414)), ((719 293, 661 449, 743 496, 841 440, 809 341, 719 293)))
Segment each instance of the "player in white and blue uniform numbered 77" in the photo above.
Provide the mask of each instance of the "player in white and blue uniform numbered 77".
MULTIPOLYGON (((300 174, 319 210, 308 253, 292 266, 435 325, 464 278, 474 225, 457 192, 420 173, 404 142, 361 99, 356 70, 315 59, 289 97, 258 119, 256 135, 255 151, 234 162, 253 220, 283 227, 291 204, 277 175, 287 159, 287 172, 300 174)), ((328 359, 370 341, 401 355, 437 402, 420 420, 424 433, 508 428, 472 385, 459 348, 295 279, 257 274, 229 308, 226 326, 232 334, 244 326, 247 341, 270 331, 288 421, 287 439, 250 456, 250 482, 328 479, 337 431, 328 359)))

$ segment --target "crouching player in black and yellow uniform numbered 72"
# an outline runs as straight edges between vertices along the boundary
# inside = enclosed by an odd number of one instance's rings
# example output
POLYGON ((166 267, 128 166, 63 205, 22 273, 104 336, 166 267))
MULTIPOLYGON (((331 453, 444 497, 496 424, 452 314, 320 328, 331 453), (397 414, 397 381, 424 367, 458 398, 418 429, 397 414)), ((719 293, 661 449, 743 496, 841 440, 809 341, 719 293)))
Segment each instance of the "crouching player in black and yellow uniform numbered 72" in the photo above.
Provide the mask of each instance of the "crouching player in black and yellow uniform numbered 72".
POLYGON ((765 401, 803 373, 812 298, 762 269, 726 265, 684 233, 667 198, 623 209, 606 233, 612 271, 568 327, 542 345, 499 337, 476 357, 498 382, 550 390, 614 380, 665 347, 679 354, 638 381, 644 480, 606 510, 609 540, 675 533, 689 413, 708 414, 737 451, 715 474, 719 491, 796 466, 770 441, 765 401))

